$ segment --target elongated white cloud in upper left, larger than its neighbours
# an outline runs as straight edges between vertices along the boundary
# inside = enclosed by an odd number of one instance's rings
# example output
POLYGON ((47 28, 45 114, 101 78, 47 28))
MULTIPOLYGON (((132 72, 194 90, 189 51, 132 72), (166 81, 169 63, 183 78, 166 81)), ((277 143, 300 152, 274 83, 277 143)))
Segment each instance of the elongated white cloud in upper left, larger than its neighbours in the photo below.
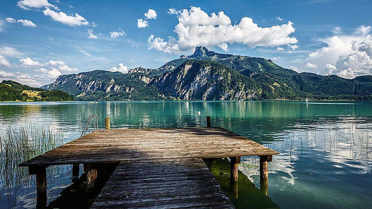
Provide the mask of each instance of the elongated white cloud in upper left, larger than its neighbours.
POLYGON ((64 12, 55 12, 49 7, 45 7, 43 11, 45 16, 50 16, 53 20, 64 23, 69 26, 80 26, 80 25, 89 25, 89 22, 78 13, 75 13, 75 16, 68 16, 64 12))

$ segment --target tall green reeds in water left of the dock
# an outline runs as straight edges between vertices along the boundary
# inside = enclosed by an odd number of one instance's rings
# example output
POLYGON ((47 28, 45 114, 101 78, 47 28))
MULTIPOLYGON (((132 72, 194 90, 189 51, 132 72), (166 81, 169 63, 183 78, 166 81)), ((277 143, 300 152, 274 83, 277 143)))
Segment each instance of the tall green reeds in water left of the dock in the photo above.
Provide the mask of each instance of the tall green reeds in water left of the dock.
MULTIPOLYGON (((21 192, 35 186, 35 178, 28 174, 28 168, 18 165, 62 145, 63 142, 62 132, 46 125, 36 127, 27 124, 0 130, 0 199, 6 194, 9 208, 15 206, 21 192)), ((49 179, 60 173, 60 170, 58 166, 49 168, 49 179)))

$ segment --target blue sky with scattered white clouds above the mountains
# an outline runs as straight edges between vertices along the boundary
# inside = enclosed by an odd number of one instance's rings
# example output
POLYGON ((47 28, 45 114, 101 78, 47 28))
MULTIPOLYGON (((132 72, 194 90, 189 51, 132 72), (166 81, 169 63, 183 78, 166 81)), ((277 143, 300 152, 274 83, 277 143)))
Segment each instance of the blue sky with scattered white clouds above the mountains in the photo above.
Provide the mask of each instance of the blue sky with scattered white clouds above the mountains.
POLYGON ((0 1, 0 80, 158 68, 196 46, 298 72, 372 73, 372 1, 0 1))

